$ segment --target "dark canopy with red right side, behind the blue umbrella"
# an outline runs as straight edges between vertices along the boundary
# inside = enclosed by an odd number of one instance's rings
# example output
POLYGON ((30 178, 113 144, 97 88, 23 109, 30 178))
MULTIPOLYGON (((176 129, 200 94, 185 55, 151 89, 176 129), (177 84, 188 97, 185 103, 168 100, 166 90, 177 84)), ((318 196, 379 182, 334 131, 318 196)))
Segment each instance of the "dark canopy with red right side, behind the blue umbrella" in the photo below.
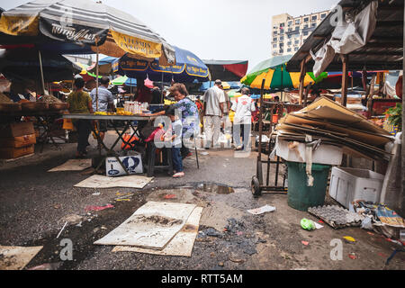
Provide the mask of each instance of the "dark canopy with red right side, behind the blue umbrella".
POLYGON ((212 80, 239 81, 247 72, 247 60, 203 59, 202 62, 210 69, 212 80))

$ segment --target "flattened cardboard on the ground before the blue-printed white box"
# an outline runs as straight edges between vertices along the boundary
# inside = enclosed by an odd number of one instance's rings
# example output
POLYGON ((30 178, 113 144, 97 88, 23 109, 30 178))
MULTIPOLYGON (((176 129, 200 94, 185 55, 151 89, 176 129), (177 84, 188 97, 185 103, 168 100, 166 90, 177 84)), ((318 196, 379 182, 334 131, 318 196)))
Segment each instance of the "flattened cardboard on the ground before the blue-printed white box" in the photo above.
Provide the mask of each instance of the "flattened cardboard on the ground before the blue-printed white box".
POLYGON ((143 188, 153 177, 146 177, 141 175, 129 175, 120 177, 107 177, 104 175, 92 175, 82 182, 75 185, 75 187, 82 188, 114 188, 114 187, 127 187, 127 188, 143 188))

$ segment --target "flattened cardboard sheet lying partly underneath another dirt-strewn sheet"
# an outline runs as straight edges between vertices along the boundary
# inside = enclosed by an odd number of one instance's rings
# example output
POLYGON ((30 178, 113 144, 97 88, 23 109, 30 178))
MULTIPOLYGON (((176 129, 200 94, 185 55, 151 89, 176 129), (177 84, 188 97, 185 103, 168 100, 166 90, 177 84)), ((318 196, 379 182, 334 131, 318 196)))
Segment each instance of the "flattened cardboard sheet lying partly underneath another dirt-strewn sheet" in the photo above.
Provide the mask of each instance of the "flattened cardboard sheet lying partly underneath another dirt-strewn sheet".
POLYGON ((162 250, 147 249, 134 246, 116 246, 112 252, 139 252, 154 255, 164 256, 182 256, 191 257, 195 238, 197 237, 198 227, 202 214, 202 207, 196 207, 190 214, 190 217, 185 222, 183 229, 181 229, 166 247, 162 250))

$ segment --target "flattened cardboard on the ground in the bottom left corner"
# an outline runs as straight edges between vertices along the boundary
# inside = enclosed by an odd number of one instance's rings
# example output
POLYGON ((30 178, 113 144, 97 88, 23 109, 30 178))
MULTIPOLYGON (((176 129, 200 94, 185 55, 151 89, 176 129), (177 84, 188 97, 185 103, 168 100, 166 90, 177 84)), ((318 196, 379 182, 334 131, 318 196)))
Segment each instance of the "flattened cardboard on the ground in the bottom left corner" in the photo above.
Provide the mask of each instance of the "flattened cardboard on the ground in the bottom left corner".
POLYGON ((0 246, 0 270, 22 270, 43 246, 0 246))

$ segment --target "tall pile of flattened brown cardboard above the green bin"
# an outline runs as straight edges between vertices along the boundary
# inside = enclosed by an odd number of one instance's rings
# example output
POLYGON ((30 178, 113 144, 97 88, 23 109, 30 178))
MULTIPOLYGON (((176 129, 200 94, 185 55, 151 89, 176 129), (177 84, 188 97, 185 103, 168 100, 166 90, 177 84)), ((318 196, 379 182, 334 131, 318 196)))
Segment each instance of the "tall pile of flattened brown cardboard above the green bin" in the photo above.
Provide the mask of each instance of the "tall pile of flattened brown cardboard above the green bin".
POLYGON ((275 130, 279 139, 304 142, 311 135, 312 140, 343 148, 345 154, 375 160, 389 160, 384 145, 394 140, 388 131, 326 97, 287 114, 275 130))

